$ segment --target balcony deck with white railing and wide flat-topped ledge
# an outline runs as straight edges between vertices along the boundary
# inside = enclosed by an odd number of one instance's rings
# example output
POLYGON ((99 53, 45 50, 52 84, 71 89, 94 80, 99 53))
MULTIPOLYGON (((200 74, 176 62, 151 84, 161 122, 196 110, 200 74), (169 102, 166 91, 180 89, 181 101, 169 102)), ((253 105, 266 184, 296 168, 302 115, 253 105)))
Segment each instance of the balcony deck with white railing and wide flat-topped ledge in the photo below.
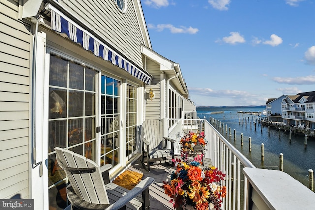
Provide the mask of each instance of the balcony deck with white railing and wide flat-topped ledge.
MULTIPOLYGON (((184 115, 185 116, 185 115, 184 115)), ((207 150, 205 164, 211 163, 226 174, 222 184, 227 187, 223 200, 224 210, 252 209, 313 209, 315 193, 293 179, 287 173, 278 170, 258 169, 238 150, 236 150, 207 120, 204 119, 169 119, 172 128, 169 137, 179 142, 184 133, 205 132, 207 150), (293 190, 294 189, 294 190, 293 190)), ((179 154, 177 144, 175 152, 179 154)), ((144 177, 156 178, 150 187, 151 209, 171 210, 170 198, 161 187, 163 181, 170 179, 174 168, 165 163, 152 166, 150 172, 142 169, 135 162, 130 170, 142 171, 144 177)))

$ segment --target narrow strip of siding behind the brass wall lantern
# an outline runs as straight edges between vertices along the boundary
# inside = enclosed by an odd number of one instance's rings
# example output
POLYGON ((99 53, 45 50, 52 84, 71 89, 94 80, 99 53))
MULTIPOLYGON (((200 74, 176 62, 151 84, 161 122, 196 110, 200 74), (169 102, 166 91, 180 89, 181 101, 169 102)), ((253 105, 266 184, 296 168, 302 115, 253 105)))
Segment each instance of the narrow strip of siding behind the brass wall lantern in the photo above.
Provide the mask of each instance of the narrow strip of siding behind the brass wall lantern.
POLYGON ((152 101, 146 97, 146 119, 161 119, 161 81, 160 66, 152 60, 146 59, 146 71, 152 75, 151 85, 146 86, 146 96, 149 96, 149 90, 154 91, 154 99, 152 101))

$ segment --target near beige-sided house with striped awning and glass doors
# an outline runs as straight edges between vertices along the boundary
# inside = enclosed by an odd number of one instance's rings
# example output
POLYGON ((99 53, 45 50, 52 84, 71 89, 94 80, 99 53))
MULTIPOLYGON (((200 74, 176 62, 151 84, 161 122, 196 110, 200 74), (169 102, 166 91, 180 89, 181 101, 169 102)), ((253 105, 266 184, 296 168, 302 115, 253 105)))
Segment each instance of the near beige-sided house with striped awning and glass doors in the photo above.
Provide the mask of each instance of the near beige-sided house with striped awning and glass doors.
POLYGON ((167 119, 195 110, 179 64, 152 50, 140 0, 1 0, 0 13, 0 198, 64 209, 54 147, 112 164, 113 179, 139 157, 146 118, 174 136, 167 119))

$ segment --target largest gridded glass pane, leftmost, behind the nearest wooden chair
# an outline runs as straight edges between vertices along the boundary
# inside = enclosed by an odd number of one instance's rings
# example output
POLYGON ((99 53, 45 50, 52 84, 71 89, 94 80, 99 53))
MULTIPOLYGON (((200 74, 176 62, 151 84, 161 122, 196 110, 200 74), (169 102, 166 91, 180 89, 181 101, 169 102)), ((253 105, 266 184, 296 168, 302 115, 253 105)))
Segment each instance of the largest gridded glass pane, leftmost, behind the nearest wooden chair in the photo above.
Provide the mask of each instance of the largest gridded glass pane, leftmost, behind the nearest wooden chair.
POLYGON ((82 63, 50 55, 48 114, 49 206, 67 203, 66 175, 56 162, 55 147, 95 161, 96 71, 82 63))

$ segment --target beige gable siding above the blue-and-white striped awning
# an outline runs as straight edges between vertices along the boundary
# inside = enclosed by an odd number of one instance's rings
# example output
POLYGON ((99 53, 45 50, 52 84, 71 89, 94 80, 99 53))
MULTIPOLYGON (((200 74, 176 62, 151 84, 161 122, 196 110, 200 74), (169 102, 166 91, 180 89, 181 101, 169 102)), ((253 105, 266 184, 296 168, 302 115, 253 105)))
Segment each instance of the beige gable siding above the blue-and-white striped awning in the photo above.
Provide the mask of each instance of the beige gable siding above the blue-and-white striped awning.
POLYGON ((126 13, 120 12, 113 0, 59 0, 58 2, 110 45, 115 46, 118 52, 143 68, 140 46, 144 43, 133 0, 128 0, 126 13))

